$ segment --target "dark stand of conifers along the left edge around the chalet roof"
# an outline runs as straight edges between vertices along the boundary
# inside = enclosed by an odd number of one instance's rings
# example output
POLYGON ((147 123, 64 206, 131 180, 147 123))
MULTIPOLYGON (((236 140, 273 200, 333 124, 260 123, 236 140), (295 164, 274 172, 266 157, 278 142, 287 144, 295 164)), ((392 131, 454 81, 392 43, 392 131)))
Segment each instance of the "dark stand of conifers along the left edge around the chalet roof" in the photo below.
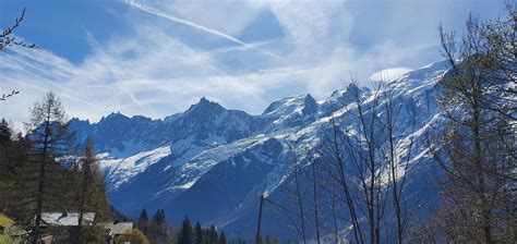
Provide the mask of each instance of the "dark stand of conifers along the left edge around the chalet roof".
POLYGON ((82 220, 85 212, 95 212, 96 222, 111 221, 94 142, 75 146, 64 108, 52 93, 31 108, 25 127, 25 135, 13 134, 12 126, 0 121, 0 211, 14 218, 29 243, 38 243, 44 234, 69 243, 104 240, 100 227, 82 227, 80 221, 58 230, 41 218, 44 212, 69 211, 82 220))

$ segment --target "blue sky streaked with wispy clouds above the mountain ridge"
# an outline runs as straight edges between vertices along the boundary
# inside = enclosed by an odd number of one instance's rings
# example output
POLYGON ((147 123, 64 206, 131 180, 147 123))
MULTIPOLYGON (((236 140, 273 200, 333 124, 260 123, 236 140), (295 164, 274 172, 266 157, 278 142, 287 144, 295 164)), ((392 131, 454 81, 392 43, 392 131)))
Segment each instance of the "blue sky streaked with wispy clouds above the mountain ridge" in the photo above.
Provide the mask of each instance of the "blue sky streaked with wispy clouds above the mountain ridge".
POLYGON ((163 119, 200 98, 260 114, 442 59, 437 26, 505 16, 504 0, 0 0, 0 27, 38 49, 0 52, 0 115, 21 125, 52 90, 70 118, 163 119))

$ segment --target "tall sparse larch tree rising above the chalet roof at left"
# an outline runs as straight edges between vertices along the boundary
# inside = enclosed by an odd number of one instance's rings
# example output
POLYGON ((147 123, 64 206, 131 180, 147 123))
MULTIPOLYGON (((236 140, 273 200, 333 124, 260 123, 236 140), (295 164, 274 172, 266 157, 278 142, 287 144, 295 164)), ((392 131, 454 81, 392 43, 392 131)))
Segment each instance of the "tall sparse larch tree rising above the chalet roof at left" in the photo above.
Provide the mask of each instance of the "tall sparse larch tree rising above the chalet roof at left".
POLYGON ((70 154, 72 134, 60 99, 48 93, 31 109, 29 122, 25 124, 27 141, 32 150, 20 176, 19 207, 23 219, 31 228, 31 243, 38 243, 41 234, 41 213, 45 210, 64 208, 60 193, 63 190, 62 175, 65 171, 58 158, 70 154))

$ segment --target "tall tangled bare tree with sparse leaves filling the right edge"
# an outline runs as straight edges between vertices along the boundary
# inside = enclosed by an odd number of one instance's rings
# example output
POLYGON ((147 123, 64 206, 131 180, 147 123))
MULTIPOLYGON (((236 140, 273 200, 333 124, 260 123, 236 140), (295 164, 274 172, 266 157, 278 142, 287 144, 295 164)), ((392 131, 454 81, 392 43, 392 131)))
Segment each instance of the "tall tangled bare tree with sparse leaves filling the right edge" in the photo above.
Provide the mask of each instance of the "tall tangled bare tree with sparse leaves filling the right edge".
POLYGON ((516 239, 515 13, 495 23, 470 16, 459 44, 440 28, 452 70, 440 83, 447 123, 431 139, 445 145, 431 146, 445 172, 436 225, 450 241, 516 239))

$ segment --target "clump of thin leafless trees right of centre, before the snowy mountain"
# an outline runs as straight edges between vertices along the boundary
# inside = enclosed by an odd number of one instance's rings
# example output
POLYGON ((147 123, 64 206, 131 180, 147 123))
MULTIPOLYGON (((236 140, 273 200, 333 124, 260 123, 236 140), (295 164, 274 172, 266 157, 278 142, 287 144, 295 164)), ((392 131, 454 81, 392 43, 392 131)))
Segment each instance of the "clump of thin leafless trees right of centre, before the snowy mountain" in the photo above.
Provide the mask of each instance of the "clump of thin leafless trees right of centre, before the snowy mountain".
POLYGON ((330 179, 342 193, 354 241, 404 243, 411 216, 405 188, 414 144, 414 101, 397 98, 388 85, 368 99, 357 85, 348 89, 353 109, 330 120, 322 155, 334 168, 328 172, 337 172, 330 179))

